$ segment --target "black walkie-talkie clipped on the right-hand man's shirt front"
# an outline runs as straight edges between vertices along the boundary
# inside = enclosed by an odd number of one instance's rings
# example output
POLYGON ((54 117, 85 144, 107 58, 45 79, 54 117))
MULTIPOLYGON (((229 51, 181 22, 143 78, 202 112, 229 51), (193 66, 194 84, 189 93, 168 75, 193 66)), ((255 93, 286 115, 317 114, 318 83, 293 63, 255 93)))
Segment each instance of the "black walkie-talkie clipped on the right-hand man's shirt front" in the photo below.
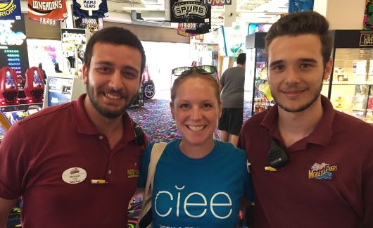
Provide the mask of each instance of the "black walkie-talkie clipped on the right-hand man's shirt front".
POLYGON ((279 145, 276 139, 272 139, 271 148, 268 151, 268 163, 271 167, 283 167, 289 162, 289 156, 286 149, 279 145))

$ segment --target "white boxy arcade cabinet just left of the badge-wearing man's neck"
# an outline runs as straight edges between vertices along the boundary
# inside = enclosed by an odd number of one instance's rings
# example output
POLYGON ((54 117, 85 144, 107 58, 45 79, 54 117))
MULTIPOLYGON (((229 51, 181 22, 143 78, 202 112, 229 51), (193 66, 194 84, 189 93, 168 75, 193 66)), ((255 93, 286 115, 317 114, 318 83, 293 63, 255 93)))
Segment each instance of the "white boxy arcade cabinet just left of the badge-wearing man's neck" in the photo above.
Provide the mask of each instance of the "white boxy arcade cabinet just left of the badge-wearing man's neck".
POLYGON ((43 108, 75 101, 86 92, 82 80, 71 76, 48 76, 43 108))

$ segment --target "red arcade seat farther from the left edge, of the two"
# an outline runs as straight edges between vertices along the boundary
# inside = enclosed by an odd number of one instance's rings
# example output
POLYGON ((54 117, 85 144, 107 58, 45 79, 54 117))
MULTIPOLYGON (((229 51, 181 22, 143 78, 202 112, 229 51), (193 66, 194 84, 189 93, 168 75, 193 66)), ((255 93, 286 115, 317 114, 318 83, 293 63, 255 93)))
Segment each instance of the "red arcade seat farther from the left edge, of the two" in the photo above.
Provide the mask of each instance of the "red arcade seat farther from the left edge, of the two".
POLYGON ((44 99, 44 74, 40 68, 31 67, 26 70, 25 98, 21 103, 39 103, 44 99))

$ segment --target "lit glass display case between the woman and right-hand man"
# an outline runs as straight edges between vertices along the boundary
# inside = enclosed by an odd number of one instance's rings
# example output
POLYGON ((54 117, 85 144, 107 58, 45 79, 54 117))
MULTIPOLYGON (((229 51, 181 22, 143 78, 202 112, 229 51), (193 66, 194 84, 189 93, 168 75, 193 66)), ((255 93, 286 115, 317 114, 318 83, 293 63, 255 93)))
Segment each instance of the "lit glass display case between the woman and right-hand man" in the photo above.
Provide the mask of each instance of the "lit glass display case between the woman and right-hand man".
POLYGON ((246 79, 244 101, 251 103, 251 115, 274 105, 268 84, 265 57, 266 32, 255 32, 246 37, 246 79))

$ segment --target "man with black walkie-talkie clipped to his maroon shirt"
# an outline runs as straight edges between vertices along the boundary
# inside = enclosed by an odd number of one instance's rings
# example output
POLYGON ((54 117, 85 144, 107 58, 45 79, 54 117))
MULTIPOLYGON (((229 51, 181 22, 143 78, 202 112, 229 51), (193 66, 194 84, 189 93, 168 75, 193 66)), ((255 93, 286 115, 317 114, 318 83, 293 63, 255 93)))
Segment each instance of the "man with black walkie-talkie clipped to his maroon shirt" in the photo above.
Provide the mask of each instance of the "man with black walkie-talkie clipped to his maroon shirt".
POLYGON ((373 127, 320 95, 333 63, 327 20, 291 13, 265 38, 277 105, 239 136, 251 162, 255 228, 373 227, 373 127))

